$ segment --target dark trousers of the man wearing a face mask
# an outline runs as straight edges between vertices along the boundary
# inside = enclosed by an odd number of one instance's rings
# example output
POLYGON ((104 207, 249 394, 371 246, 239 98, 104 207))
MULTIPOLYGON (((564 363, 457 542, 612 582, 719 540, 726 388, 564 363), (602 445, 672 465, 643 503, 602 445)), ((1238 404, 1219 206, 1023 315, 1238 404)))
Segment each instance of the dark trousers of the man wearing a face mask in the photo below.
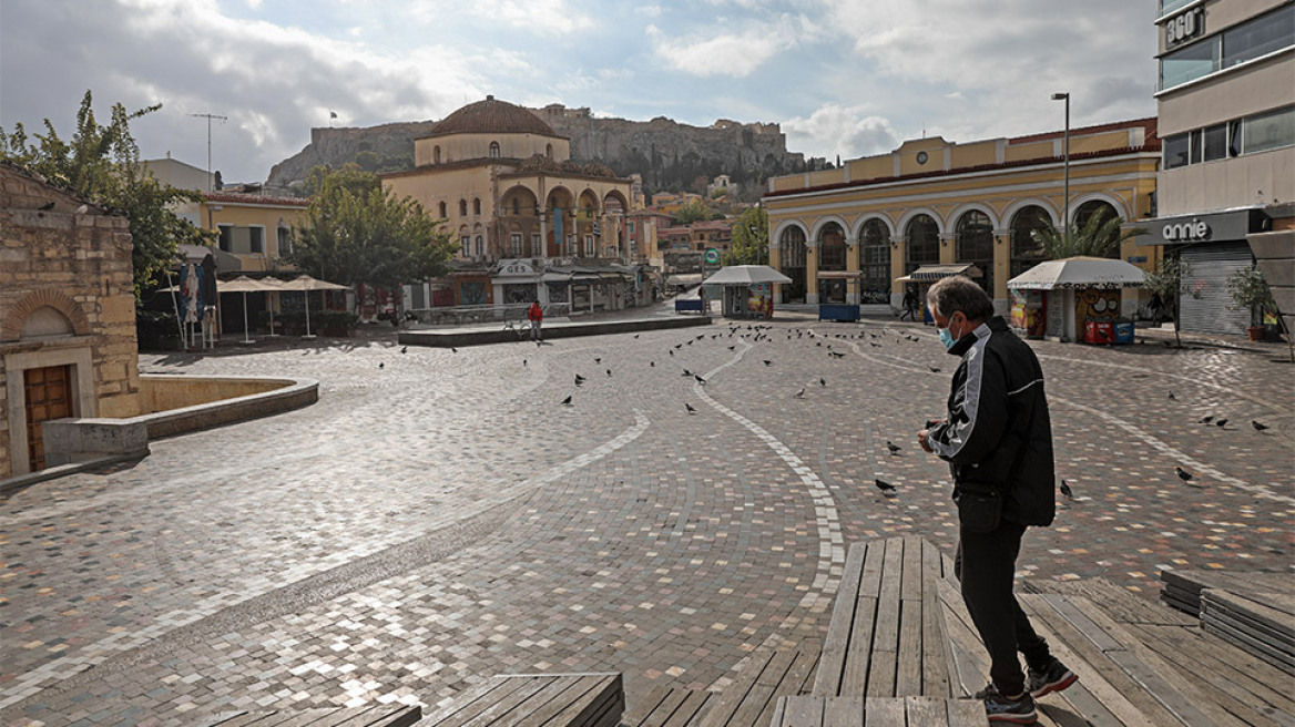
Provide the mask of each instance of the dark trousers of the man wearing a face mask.
POLYGON ((1006 696, 1026 688, 1018 651, 1035 670, 1041 671, 1052 661, 1048 642, 1035 633, 1011 592, 1024 532, 1024 525, 1008 521, 991 533, 961 528, 954 565, 962 581, 962 602, 989 652, 989 679, 1006 696))

